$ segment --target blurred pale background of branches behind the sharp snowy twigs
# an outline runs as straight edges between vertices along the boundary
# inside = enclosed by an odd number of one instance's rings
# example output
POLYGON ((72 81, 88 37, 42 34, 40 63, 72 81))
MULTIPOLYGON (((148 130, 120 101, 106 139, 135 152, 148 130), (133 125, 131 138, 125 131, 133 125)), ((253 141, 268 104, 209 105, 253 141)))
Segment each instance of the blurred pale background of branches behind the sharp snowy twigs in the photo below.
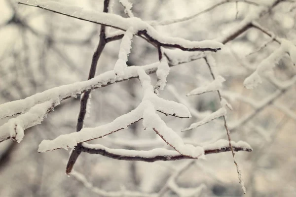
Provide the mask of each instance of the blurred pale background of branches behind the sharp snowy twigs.
MULTIPOLYGON (((265 6, 265 1, 256 4, 265 6)), ((133 0, 133 14, 145 21, 163 21, 190 16, 207 9, 217 0, 133 0)), ((103 0, 63 0, 101 12, 103 0)), ((193 19, 176 24, 157 26, 164 35, 189 40, 215 39, 238 25, 258 5, 229 2, 193 19)), ((294 41, 296 37, 293 0, 283 1, 257 22, 278 37, 294 41)), ((52 87, 86 80, 91 58, 99 40, 99 25, 79 21, 38 8, 0 0, 0 103, 42 92, 52 87)), ((115 0, 113 12, 126 17, 122 6, 115 0)), ((108 43, 99 60, 97 74, 111 70, 118 58, 120 40, 108 43)), ((257 89, 247 90, 243 81, 259 63, 279 47, 269 36, 251 28, 226 44, 214 54, 218 70, 226 79, 222 96, 233 107, 227 113, 228 125, 235 127, 246 116, 250 118, 231 130, 232 140, 247 141, 254 149, 251 153, 236 153, 247 195, 252 197, 292 197, 296 193, 295 87, 282 93, 265 105, 260 101, 280 91, 269 77, 257 89), (261 48, 262 45, 266 46, 261 48), (261 48, 261 49, 260 49, 261 48), (260 49, 260 50, 258 50, 260 49), (254 52, 254 53, 252 53, 254 52), (251 54, 250 54, 251 53, 251 54), (246 102, 255 99, 252 105, 246 102), (261 108, 260 108, 261 106, 261 108), (284 108, 284 109, 283 109, 284 108)), ((128 65, 146 65, 158 60, 157 50, 143 39, 135 37, 128 65)), ((288 55, 275 66, 272 79, 288 81, 295 75, 295 67, 288 55)), ((153 80, 156 76, 153 74, 153 80)), ((184 99, 187 107, 199 112, 215 111, 220 106, 216 92, 185 97, 191 90, 211 81, 203 59, 173 66, 160 97, 178 102, 184 99), (177 95, 176 95, 177 94, 177 95)), ((85 125, 95 127, 111 122, 116 117, 134 109, 142 100, 138 79, 112 84, 92 92, 89 116, 85 125)), ((65 175, 69 152, 57 150, 37 153, 42 139, 53 139, 60 134, 75 131, 79 99, 62 101, 41 125, 26 131, 22 143, 0 143, 0 196, 2 197, 84 197, 98 196, 74 177, 65 175)), ((262 102, 263 103, 263 102, 262 102)), ((263 103, 264 104, 264 103, 263 103)), ((192 131, 181 132, 200 119, 176 120, 162 117, 167 125, 185 139, 196 144, 207 144, 226 139, 220 119, 192 131)), ((1 125, 7 119, 1 120, 1 125)), ((156 140, 154 132, 143 130, 142 122, 113 133, 96 143, 113 148, 148 150, 133 147, 128 142, 138 139, 156 140)), ((177 183, 182 187, 206 185, 201 196, 241 196, 237 173, 231 153, 206 156, 197 160, 182 173, 177 183)), ((94 186, 106 191, 130 190, 157 193, 176 169, 188 161, 129 162, 99 155, 82 154, 75 170, 84 174, 94 186)), ((167 196, 176 196, 172 191, 167 196)))

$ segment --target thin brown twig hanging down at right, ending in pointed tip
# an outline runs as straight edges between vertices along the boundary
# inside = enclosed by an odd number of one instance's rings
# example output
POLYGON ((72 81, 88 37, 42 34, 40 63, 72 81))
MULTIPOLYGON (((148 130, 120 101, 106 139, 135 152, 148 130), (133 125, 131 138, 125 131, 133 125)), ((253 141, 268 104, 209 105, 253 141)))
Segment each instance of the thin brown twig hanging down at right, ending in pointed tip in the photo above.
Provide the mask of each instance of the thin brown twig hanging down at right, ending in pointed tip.
MULTIPOLYGON (((204 60, 206 61, 207 66, 209 67, 209 70, 210 70, 210 72, 211 72, 211 75, 212 75, 213 80, 215 80, 216 77, 215 77, 215 74, 214 74, 214 72, 213 72, 213 69, 212 69, 212 67, 211 67, 211 65, 210 65, 210 63, 209 63, 209 61, 208 61, 208 58, 206 57, 206 58, 204 58, 204 60)), ((219 99, 220 99, 220 101, 222 101, 222 96, 221 96, 220 91, 217 90, 217 93, 218 93, 218 95, 219 95, 219 99)), ((223 115, 222 117, 223 117, 223 121, 224 121, 224 127, 225 127, 225 130, 226 130, 226 133, 227 133, 227 138, 228 138, 229 147, 230 147, 230 150, 231 150, 231 153, 232 153, 233 163, 235 164, 236 171, 237 171, 237 174, 238 174, 238 180, 239 180, 239 183, 241 184, 241 187, 242 187, 243 192, 244 192, 244 194, 245 194, 245 193, 246 193, 246 188, 245 188, 244 183, 243 183, 243 181, 242 181, 242 174, 241 174, 241 171, 240 171, 239 166, 238 166, 238 164, 237 164, 237 162, 236 162, 236 160, 235 160, 235 154, 234 154, 233 147, 232 147, 232 144, 231 144, 230 131, 229 131, 228 126, 227 126, 226 117, 225 117, 225 115, 223 115)))

